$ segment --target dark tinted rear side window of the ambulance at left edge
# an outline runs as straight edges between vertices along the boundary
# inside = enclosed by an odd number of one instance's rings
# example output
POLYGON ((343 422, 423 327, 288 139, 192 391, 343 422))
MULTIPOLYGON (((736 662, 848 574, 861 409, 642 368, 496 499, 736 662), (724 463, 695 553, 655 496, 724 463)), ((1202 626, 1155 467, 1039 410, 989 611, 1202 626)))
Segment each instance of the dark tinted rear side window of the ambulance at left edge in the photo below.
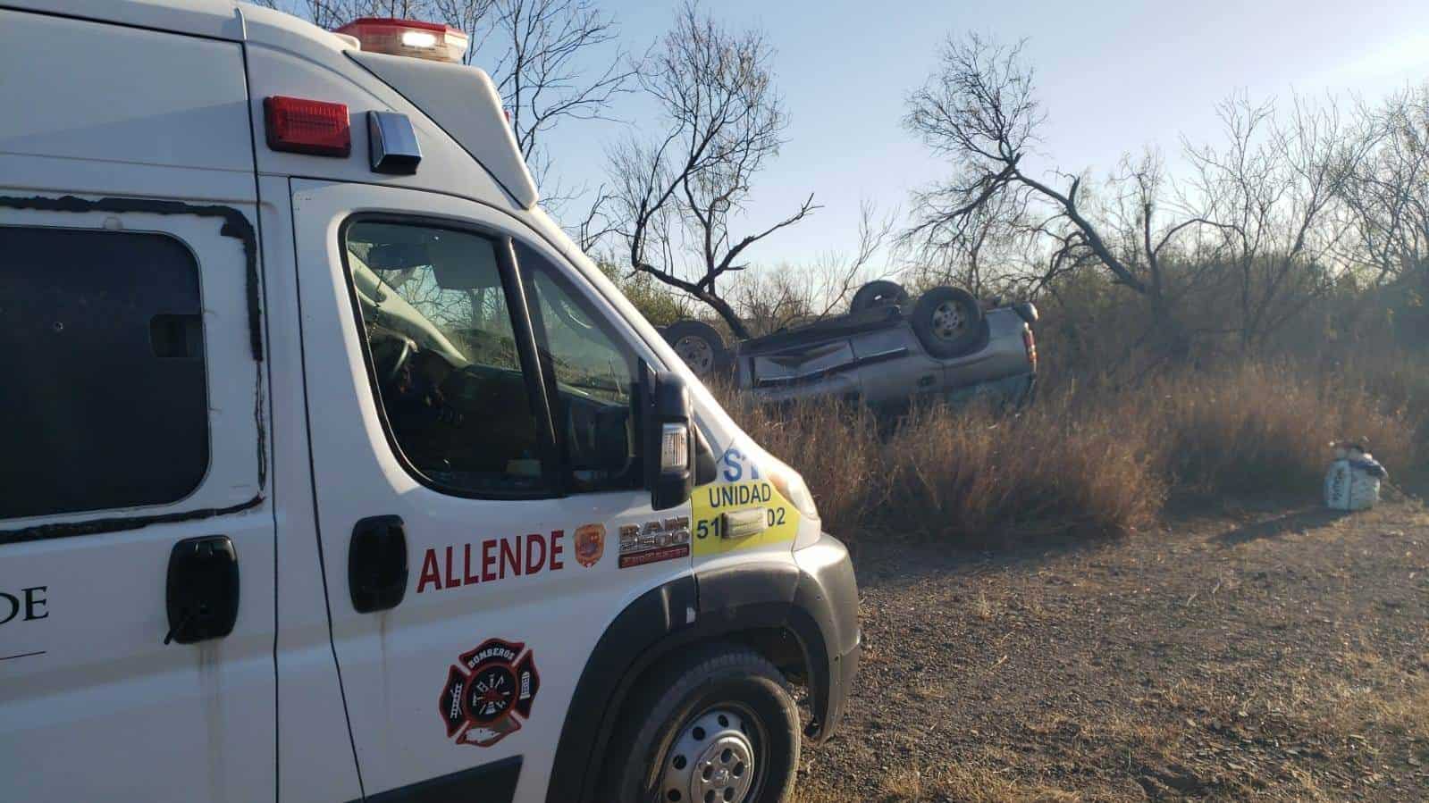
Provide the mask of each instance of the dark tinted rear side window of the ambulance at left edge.
POLYGON ((27 226, 0 226, 0 519, 189 496, 209 469, 194 254, 27 226))

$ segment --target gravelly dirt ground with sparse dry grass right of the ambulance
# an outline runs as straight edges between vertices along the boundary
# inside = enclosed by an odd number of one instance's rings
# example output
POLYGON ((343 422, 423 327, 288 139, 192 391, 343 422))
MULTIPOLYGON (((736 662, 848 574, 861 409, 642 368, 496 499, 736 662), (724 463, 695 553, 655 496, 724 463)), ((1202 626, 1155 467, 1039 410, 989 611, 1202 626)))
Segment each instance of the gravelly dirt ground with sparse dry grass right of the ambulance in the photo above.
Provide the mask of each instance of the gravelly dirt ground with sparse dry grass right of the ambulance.
POLYGON ((1418 502, 855 562, 863 666, 799 803, 1429 800, 1418 502))

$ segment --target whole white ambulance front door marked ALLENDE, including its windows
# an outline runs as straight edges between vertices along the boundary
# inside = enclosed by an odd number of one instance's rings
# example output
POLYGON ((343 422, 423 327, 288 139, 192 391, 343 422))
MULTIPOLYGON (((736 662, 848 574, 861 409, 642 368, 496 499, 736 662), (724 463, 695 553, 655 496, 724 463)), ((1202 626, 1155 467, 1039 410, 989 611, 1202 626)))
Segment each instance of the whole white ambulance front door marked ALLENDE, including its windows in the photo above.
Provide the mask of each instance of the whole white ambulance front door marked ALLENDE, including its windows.
POLYGON ((517 220, 293 180, 333 643, 363 790, 543 800, 606 626, 690 573, 653 512, 637 346, 517 220), (417 787, 416 784, 423 784, 417 787))

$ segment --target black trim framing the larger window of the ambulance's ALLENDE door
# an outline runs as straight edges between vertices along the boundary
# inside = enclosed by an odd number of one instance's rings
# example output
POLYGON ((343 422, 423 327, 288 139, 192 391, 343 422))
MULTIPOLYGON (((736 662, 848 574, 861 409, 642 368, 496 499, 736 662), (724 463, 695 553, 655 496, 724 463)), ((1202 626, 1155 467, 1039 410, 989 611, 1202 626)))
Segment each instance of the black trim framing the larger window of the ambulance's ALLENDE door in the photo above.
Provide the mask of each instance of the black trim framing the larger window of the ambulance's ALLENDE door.
POLYGON ((367 390, 373 406, 377 409, 377 417, 382 422, 382 432, 387 440, 387 447, 403 470, 422 486, 443 496, 453 496, 459 499, 536 500, 562 499, 569 496, 570 489, 567 477, 570 472, 567 470, 569 466, 566 460, 560 457, 560 450, 556 442, 556 429, 552 419, 550 397, 547 393, 549 389, 554 389, 554 377, 547 380, 546 374, 550 371, 546 370, 544 361, 540 359, 540 350, 536 344, 536 333, 532 329, 530 309, 526 301, 526 287, 522 280, 522 271, 516 264, 513 237, 496 226, 483 226, 472 220, 393 211, 359 211, 347 216, 342 226, 337 227, 337 246, 339 254, 343 260, 343 280, 347 283, 347 299, 353 309, 352 321, 359 326, 357 340, 362 347, 363 369, 367 374, 367 390), (540 442, 542 450, 543 489, 532 492, 497 492, 456 487, 433 480, 407 459, 402 444, 397 443, 396 433, 392 430, 392 422, 387 419, 387 407, 382 402, 377 370, 372 359, 372 346, 367 343, 366 331, 362 329, 364 326, 362 303, 357 299, 357 284, 353 280, 352 266, 347 261, 347 231, 354 223, 426 226, 430 229, 446 229, 449 231, 474 234, 493 241, 496 246, 497 273, 502 279, 502 290, 506 296, 506 309, 512 319, 512 336, 516 340, 516 353, 520 360, 522 376, 526 381, 526 396, 532 406, 532 416, 536 419, 536 436, 540 442))

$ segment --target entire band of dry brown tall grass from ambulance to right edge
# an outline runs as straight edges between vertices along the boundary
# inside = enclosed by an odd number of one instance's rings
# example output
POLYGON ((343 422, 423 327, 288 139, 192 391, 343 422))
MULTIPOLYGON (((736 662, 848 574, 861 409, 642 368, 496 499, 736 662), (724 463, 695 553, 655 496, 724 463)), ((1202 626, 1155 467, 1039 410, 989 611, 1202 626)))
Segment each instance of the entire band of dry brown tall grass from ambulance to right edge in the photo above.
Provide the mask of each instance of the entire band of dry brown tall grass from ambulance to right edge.
POLYGON ((1365 437, 1395 472, 1418 462, 1416 432, 1429 420, 1409 391, 1265 364, 1135 386, 1065 381, 1016 416, 937 404, 892 426, 842 402, 762 407, 717 393, 803 473, 832 532, 977 546, 1125 534, 1169 494, 1313 496, 1330 440, 1365 437))

